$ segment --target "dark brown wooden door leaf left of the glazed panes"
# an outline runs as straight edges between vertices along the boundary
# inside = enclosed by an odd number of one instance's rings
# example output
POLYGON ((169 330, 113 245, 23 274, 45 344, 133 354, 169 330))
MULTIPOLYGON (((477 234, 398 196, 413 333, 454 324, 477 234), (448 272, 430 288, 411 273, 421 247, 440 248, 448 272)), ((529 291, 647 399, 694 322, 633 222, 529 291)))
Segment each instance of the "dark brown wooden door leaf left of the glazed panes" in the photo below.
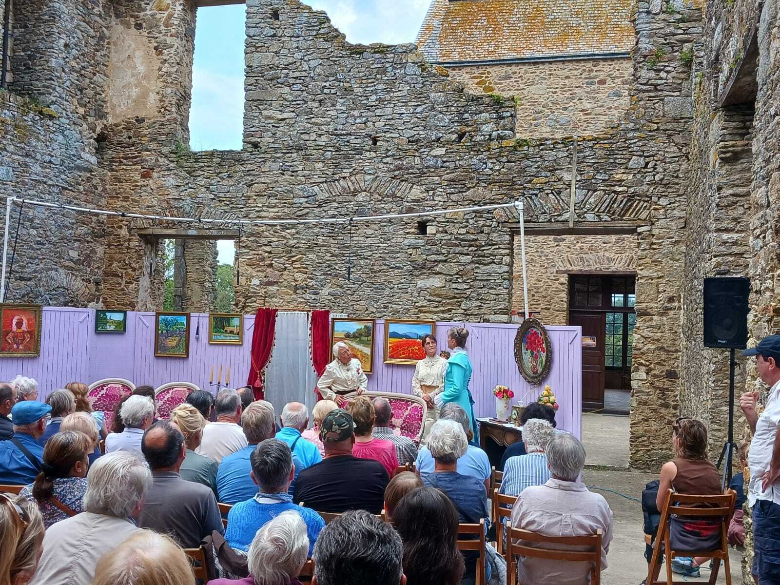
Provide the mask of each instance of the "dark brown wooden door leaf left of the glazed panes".
POLYGON ((604 313, 569 311, 569 324, 583 328, 583 411, 604 408, 604 313), (595 339, 595 346, 589 343, 595 339))

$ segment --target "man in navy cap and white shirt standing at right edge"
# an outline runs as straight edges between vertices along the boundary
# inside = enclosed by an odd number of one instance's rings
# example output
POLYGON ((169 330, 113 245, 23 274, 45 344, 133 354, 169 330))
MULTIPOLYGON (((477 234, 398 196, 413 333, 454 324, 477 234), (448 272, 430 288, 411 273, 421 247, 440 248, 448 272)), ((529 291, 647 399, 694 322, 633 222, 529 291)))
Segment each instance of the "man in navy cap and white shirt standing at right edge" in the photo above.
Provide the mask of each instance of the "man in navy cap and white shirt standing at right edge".
POLYGON ((756 356, 758 377, 770 385, 767 405, 756 413, 758 391, 745 392, 739 406, 753 431, 747 465, 747 501, 753 508, 753 576, 761 585, 780 585, 780 335, 761 339, 744 356, 756 356))

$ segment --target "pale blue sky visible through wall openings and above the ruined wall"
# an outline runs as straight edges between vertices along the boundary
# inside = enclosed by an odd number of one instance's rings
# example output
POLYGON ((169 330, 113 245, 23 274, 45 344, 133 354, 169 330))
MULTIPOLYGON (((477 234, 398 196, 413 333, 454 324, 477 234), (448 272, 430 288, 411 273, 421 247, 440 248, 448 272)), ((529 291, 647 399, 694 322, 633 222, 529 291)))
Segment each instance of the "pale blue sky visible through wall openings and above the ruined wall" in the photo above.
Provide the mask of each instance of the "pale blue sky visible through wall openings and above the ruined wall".
MULTIPOLYGON (((351 43, 413 43, 431 0, 308 0, 328 12, 351 43)), ((190 147, 239 150, 243 126, 246 6, 200 8, 195 33, 190 147)), ((232 241, 220 240, 219 262, 232 264, 232 241)))

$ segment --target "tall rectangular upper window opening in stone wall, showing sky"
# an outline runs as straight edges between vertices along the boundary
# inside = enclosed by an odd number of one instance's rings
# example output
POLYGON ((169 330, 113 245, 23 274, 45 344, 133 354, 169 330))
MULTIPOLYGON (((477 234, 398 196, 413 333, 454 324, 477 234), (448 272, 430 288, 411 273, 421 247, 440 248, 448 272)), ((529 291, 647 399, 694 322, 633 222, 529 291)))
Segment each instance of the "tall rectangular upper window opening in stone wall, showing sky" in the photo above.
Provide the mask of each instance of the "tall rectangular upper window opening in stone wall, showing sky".
POLYGON ((193 58, 190 148, 240 150, 246 6, 199 8, 193 58))

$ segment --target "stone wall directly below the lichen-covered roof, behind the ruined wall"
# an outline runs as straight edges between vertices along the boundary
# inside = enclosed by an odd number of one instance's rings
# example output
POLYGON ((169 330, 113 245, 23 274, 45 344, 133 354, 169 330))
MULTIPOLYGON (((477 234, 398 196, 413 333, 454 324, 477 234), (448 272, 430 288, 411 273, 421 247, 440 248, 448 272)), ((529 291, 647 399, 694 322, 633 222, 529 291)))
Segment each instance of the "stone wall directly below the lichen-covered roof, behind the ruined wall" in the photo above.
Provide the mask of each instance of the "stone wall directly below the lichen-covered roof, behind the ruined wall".
POLYGON ((450 66, 475 92, 515 97, 520 137, 584 136, 611 129, 629 108, 630 58, 450 66))

